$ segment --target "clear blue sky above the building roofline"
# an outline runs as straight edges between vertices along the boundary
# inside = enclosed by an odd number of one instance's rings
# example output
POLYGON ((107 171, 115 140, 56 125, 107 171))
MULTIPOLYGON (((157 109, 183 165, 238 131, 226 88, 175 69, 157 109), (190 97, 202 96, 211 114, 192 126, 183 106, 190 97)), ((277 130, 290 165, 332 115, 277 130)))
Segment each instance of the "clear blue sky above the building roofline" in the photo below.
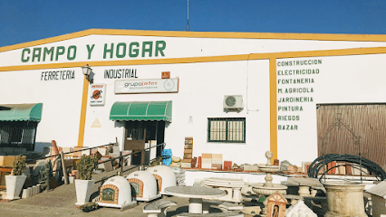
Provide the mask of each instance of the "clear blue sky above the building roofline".
MULTIPOLYGON (((0 0, 0 47, 91 28, 187 31, 187 0, 0 0)), ((386 32, 386 1, 189 0, 189 31, 386 32)))

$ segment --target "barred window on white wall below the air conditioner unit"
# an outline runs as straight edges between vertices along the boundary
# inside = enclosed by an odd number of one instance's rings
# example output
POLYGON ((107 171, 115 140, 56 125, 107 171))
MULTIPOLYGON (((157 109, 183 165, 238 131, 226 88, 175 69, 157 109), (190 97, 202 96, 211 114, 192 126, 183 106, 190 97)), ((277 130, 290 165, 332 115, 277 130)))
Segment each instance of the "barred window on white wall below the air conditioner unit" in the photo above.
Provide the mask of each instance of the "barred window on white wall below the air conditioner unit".
POLYGON ((208 142, 246 142, 246 118, 207 118, 208 142))

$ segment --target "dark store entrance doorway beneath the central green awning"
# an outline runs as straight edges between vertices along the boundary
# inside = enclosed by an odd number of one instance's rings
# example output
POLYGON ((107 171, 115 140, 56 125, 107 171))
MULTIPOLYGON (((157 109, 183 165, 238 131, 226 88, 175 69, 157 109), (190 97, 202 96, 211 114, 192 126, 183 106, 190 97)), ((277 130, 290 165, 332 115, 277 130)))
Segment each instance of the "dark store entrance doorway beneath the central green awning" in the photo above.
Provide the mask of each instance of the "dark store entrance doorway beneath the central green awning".
MULTIPOLYGON (((126 121, 124 150, 137 152, 164 142, 165 121, 126 121)), ((160 156, 162 146, 131 156, 132 165, 149 165, 154 156, 160 156)))

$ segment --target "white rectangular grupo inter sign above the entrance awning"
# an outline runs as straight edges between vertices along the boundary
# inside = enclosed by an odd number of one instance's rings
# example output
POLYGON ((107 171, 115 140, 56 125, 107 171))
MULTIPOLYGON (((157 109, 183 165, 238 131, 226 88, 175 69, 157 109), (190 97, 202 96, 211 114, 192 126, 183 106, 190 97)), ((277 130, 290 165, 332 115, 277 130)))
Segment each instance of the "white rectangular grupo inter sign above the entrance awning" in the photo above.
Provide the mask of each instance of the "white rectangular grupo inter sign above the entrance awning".
POLYGON ((115 93, 179 92, 179 79, 115 80, 115 93))

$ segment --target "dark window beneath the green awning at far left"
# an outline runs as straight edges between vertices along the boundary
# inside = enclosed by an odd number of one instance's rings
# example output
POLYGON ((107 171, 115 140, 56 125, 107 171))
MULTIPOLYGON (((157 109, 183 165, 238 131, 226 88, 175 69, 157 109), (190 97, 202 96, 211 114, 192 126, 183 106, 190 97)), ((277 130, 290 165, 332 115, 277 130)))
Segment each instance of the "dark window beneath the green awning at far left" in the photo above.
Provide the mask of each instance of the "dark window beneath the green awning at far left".
POLYGON ((0 146, 34 151, 37 122, 0 121, 0 146))

